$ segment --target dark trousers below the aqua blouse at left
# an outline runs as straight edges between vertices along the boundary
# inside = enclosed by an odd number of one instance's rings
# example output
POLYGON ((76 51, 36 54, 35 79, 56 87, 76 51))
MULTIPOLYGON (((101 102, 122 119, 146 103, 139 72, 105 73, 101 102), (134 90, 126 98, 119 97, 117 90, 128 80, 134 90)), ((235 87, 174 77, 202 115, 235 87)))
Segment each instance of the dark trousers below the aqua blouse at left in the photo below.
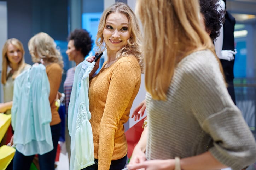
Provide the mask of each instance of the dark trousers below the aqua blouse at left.
MULTIPOLYGON (((40 170, 54 170, 55 157, 60 136, 60 123, 51 126, 53 150, 43 155, 38 155, 40 170)), ((34 155, 25 156, 16 150, 13 158, 13 170, 29 170, 34 155)))

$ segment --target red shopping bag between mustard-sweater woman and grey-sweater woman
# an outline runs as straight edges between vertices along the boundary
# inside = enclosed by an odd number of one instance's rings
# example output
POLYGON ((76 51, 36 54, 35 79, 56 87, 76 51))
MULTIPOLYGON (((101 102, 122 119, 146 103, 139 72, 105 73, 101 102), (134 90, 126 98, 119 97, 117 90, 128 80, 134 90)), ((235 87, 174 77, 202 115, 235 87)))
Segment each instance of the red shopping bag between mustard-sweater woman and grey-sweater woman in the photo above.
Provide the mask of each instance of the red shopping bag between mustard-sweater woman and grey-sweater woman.
POLYGON ((140 140, 141 133, 143 131, 142 125, 143 125, 144 119, 141 119, 139 122, 137 122, 135 125, 133 125, 131 128, 129 128, 125 132, 127 144, 128 144, 128 158, 131 157, 133 153, 133 149, 140 140))

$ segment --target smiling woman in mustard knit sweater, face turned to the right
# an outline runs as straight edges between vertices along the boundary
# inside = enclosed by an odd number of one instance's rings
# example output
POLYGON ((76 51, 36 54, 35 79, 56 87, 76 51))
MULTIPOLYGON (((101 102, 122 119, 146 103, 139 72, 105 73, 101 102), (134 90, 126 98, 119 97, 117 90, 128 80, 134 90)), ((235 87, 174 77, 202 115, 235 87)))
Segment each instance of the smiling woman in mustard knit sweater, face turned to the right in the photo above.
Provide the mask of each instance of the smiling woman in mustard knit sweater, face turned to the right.
POLYGON ((106 48, 108 59, 90 80, 95 164, 85 169, 122 169, 127 159, 123 124, 140 87, 143 63, 138 21, 127 4, 116 2, 103 12, 96 37, 98 52, 106 48))

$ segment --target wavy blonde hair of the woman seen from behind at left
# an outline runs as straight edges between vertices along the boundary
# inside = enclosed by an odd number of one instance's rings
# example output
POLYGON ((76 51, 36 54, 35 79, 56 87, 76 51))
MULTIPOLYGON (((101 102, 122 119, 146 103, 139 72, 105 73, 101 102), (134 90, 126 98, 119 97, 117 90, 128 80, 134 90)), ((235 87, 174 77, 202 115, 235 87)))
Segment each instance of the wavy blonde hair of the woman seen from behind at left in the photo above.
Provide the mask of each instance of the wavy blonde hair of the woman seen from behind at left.
POLYGON ((40 32, 28 42, 29 53, 34 63, 43 59, 47 63, 58 63, 63 68, 63 59, 53 38, 47 33, 40 32))

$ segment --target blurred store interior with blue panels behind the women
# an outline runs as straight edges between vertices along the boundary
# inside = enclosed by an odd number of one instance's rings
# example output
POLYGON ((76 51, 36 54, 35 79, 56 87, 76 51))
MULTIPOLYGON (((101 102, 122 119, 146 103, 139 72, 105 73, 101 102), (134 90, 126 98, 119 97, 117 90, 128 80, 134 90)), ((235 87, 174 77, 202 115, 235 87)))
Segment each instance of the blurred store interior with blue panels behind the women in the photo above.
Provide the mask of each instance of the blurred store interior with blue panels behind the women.
MULTIPOLYGON (((1 50, 7 39, 17 38, 24 45, 25 61, 33 64, 27 43, 38 32, 48 33, 56 40, 63 55, 65 67, 62 81, 64 82, 66 70, 75 65, 74 62, 68 61, 65 53, 68 34, 76 28, 83 28, 91 33, 95 41, 101 13, 115 1, 125 2, 133 10, 135 9, 136 0, 0 0, 1 50)), ((237 21, 234 32, 235 48, 238 52, 234 65, 236 102, 256 136, 256 0, 227 0, 227 11, 237 21)), ((90 55, 94 53, 92 50, 90 55)), ((103 61, 104 58, 101 59, 101 63, 103 61)), ((0 88, 0 102, 2 102, 2 86, 0 88)), ((63 85, 59 90, 63 92, 63 85)), ((145 93, 142 80, 131 112, 144 99, 145 93)), ((126 130, 134 123, 134 120, 130 119, 126 124, 126 130)))

